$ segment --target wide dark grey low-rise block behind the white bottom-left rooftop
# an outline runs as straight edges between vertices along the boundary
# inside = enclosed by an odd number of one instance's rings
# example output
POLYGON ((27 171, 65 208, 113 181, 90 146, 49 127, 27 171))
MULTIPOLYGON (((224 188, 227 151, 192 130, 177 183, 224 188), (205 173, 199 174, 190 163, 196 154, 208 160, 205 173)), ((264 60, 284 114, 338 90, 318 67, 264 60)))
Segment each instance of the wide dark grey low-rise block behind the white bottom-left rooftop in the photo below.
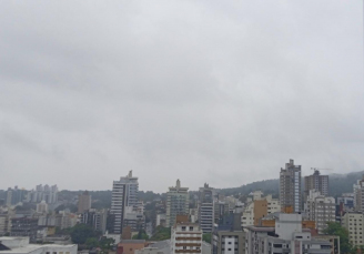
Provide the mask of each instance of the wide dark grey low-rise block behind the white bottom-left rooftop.
POLYGON ((31 242, 36 242, 38 231, 38 219, 13 217, 11 219, 11 236, 28 236, 31 242))

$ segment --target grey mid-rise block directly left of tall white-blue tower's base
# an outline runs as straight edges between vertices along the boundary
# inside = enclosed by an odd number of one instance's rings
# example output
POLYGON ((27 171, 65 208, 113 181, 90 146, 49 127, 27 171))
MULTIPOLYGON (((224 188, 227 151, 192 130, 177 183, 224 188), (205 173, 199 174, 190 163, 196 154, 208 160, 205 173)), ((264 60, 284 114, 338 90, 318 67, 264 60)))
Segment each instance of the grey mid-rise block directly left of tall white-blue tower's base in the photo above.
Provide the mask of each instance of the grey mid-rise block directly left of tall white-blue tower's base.
POLYGON ((80 223, 88 224, 92 226, 95 231, 100 231, 102 232, 102 234, 104 234, 107 231, 107 210, 97 211, 94 209, 91 209, 81 213, 80 223))

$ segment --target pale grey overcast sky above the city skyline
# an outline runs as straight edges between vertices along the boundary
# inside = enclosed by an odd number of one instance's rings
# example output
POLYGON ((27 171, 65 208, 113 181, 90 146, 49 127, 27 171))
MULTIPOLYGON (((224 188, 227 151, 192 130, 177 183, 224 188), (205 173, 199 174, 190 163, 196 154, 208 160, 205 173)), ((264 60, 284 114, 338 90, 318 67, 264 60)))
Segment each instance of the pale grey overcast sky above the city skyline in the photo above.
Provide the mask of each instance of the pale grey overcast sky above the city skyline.
POLYGON ((1 1, 0 189, 364 170, 363 1, 1 1))

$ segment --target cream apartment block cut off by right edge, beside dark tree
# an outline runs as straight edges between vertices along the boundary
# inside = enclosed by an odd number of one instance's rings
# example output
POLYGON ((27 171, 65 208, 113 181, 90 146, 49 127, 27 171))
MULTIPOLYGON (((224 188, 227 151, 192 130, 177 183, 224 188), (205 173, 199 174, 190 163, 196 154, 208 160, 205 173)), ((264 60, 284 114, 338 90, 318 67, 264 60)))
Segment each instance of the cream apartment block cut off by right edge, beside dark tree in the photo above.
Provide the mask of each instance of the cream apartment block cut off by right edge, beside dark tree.
POLYGON ((342 226, 348 231, 348 240, 355 246, 364 245, 364 215, 361 212, 347 212, 342 216, 342 226))

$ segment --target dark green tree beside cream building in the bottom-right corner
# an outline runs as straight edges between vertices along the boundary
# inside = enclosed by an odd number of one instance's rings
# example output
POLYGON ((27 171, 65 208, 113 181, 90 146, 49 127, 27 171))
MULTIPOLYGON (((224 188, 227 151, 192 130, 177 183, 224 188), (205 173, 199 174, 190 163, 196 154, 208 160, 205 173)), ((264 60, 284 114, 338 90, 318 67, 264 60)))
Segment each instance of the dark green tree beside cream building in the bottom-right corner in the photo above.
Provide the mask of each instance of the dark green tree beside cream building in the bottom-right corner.
MULTIPOLYGON (((340 236, 340 252, 342 254, 355 254, 356 250, 348 241, 348 232, 337 222, 328 222, 324 234, 340 236)), ((337 246, 336 246, 337 247, 337 246)))

